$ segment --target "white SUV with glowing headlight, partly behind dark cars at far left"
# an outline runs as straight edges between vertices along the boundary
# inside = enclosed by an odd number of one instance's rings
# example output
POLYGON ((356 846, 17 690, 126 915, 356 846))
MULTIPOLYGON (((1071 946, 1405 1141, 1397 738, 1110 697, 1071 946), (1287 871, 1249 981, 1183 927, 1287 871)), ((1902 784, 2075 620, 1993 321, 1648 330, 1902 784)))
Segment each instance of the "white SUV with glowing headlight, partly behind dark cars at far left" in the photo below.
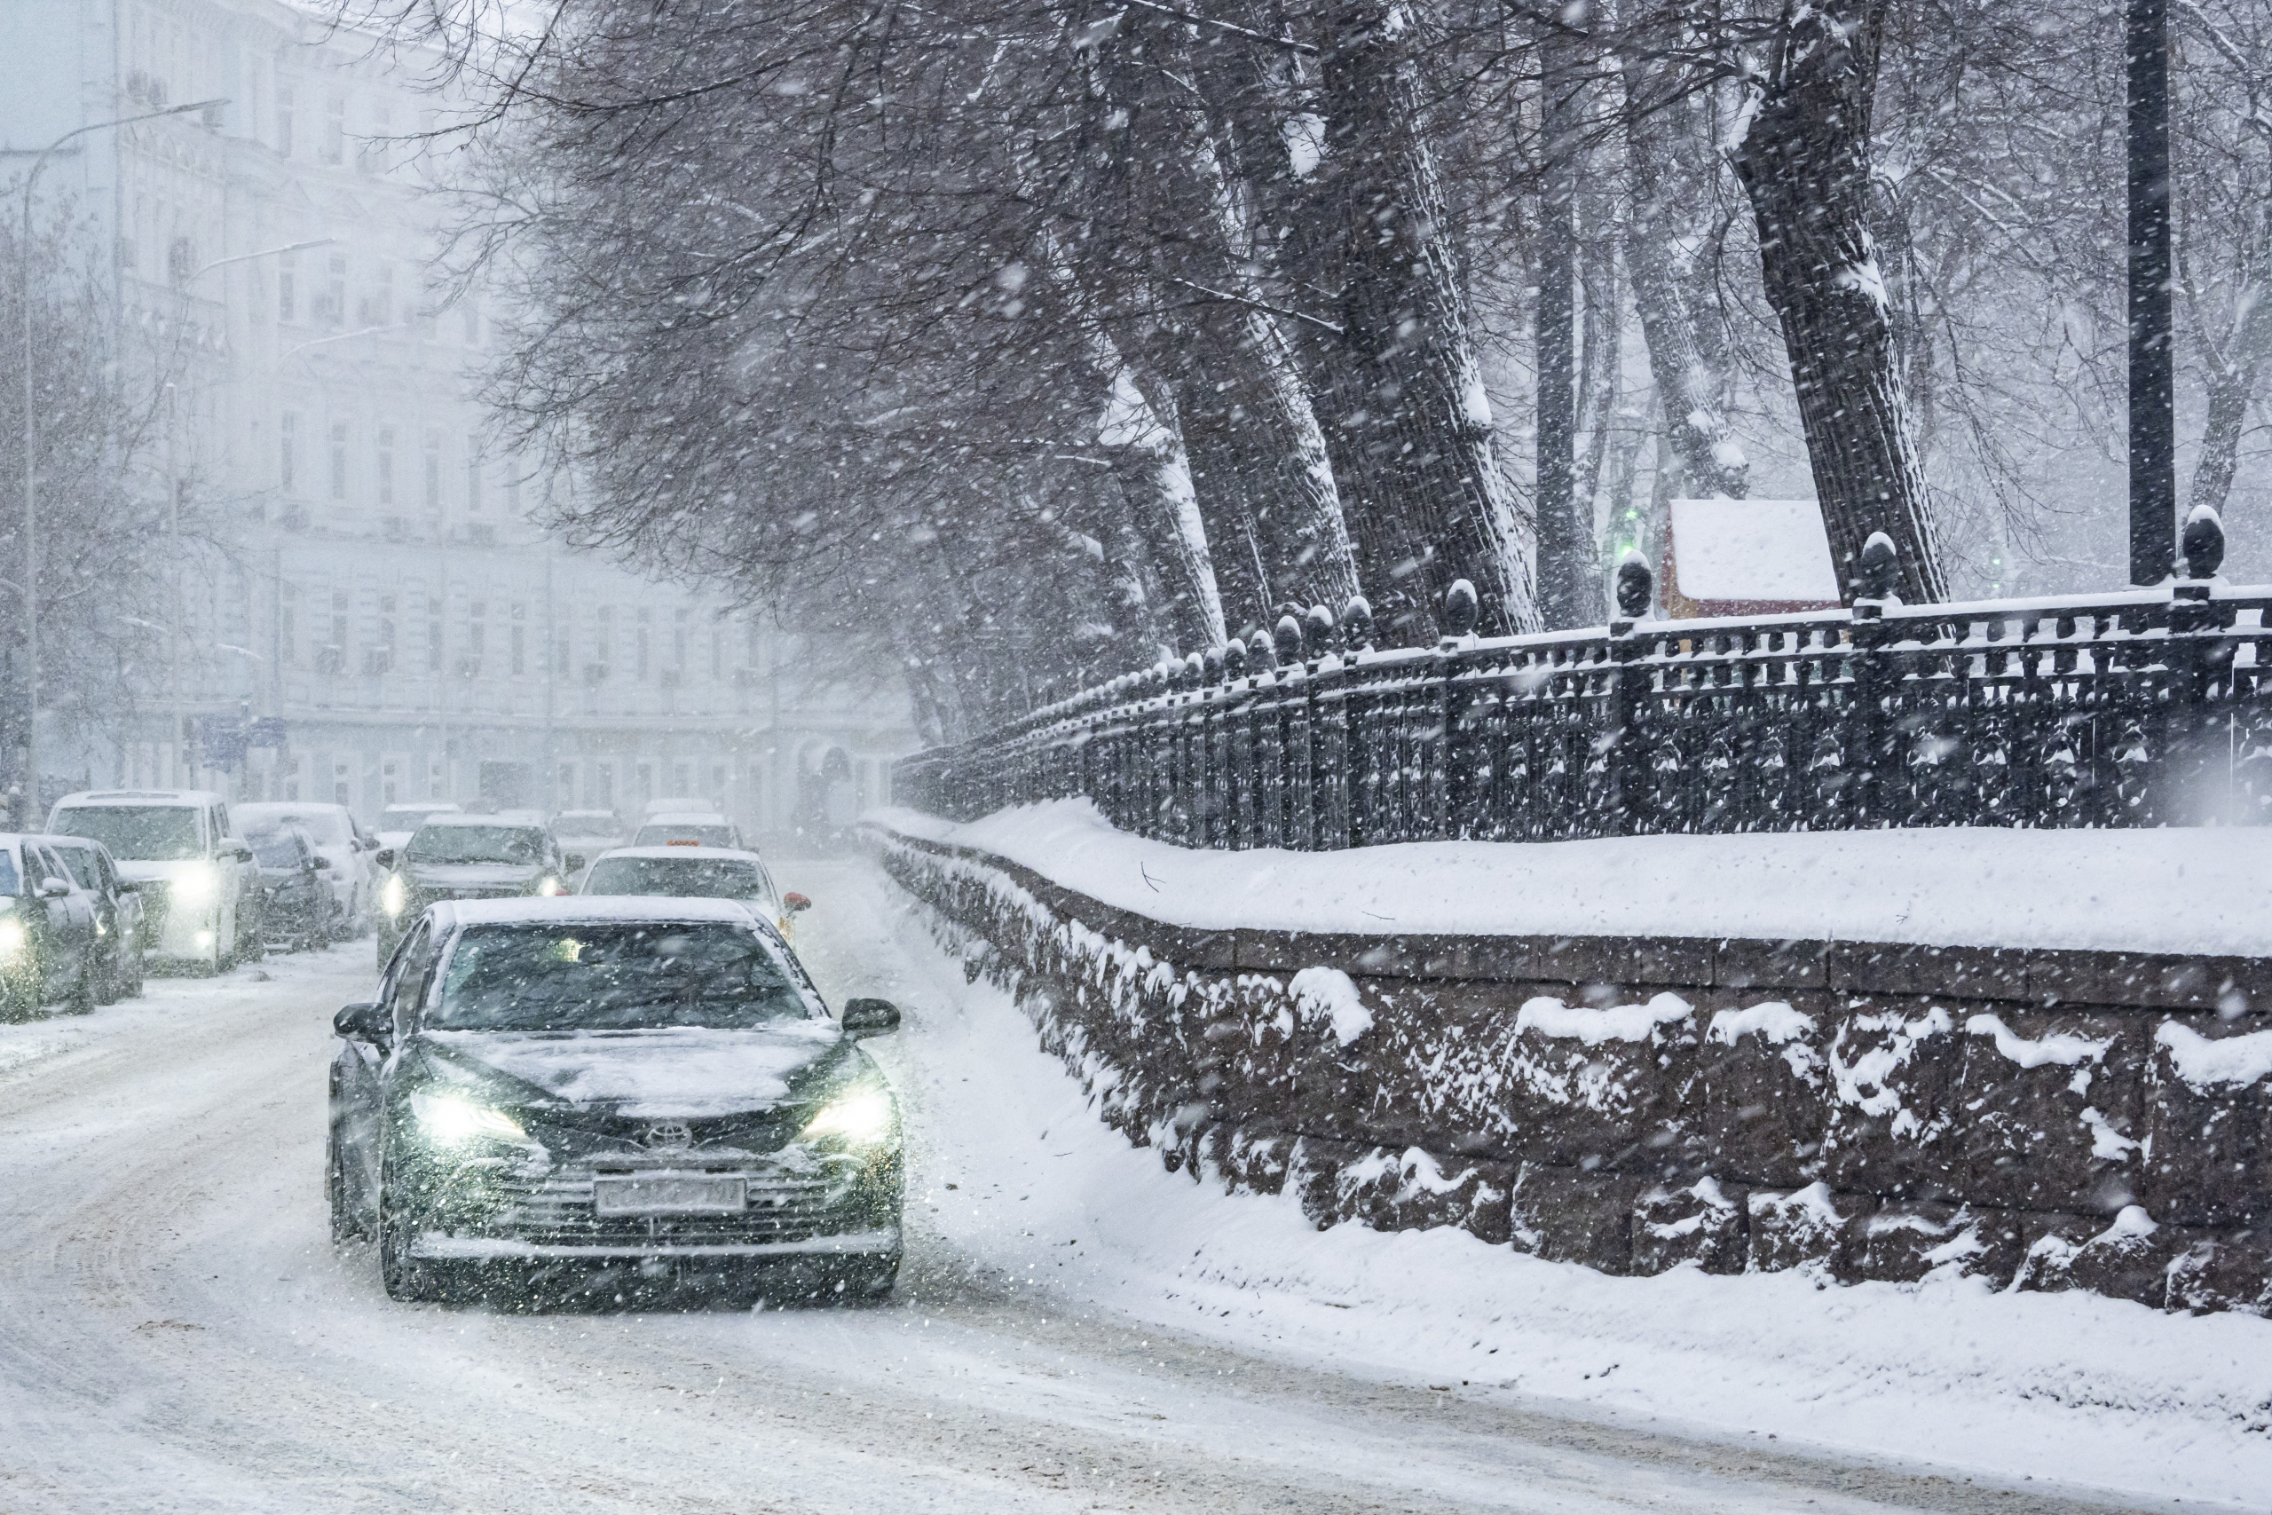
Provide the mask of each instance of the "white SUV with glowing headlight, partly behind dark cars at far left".
POLYGON ((57 800, 48 831, 102 843, 143 886, 150 956, 211 974, 261 954, 259 868, 214 790, 82 790, 57 800))

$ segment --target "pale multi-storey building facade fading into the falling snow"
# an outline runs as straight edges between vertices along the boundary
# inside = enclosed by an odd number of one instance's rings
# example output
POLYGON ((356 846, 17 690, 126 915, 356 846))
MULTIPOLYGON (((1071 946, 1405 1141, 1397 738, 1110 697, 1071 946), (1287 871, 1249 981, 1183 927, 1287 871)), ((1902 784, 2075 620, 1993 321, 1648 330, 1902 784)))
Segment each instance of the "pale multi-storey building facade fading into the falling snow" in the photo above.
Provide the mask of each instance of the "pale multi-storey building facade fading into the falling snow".
POLYGON ((5 173, 73 127, 39 211, 109 243, 120 350, 166 375, 166 677, 50 775, 243 797, 548 809, 702 795, 763 834, 888 797, 904 700, 763 613, 568 552, 568 488, 488 441, 477 282, 434 275, 452 182, 420 59, 284 0, 14 0, 5 173), (136 357, 139 354, 139 357, 136 357))

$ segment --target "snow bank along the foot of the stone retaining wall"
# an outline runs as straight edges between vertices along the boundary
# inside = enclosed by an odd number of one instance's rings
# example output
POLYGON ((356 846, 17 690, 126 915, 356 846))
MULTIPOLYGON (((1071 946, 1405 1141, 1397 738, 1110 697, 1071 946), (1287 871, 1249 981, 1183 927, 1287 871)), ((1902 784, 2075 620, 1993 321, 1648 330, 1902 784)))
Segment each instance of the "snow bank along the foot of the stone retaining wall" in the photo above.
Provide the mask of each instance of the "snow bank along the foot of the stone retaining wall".
MULTIPOLYGON (((1143 847, 1106 843, 1068 865, 1072 845, 1100 838, 1063 811, 1050 872, 1075 888, 1102 888, 1143 847)), ((1011 840, 1050 859, 1038 834, 1029 820, 1011 840)), ((1168 859, 1145 859, 1159 879, 1168 859)), ((913 929, 895 938, 916 1020, 895 1074, 929 1142, 911 1204, 959 1249, 1045 1290, 1261 1356, 1511 1406, 2272 1508, 2272 1322, 1970 1281, 1611 1279, 1459 1231, 1320 1233, 1293 1197, 1227 1197, 1131 1149, 1002 990, 968 986, 913 929)))

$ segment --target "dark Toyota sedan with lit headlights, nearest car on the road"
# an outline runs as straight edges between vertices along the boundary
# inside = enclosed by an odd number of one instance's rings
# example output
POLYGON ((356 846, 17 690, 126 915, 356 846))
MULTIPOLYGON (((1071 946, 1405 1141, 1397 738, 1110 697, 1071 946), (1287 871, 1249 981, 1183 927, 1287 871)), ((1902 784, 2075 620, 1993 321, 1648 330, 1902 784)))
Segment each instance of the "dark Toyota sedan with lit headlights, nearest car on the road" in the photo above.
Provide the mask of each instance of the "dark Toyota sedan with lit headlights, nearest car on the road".
POLYGON ((795 952, 725 899, 495 899, 411 922, 339 1011, 325 1188, 395 1299, 802 1267, 888 1292, 900 1111, 795 952))

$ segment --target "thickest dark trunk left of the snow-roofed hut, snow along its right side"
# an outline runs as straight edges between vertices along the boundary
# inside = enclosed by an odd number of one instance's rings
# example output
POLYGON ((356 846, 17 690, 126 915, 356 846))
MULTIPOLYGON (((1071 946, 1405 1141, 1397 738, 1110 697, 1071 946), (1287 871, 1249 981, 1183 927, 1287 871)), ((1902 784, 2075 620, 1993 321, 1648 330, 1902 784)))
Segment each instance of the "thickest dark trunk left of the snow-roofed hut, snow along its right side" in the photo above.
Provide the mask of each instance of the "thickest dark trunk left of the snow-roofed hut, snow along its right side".
POLYGON ((1322 59, 1325 164, 1340 234, 1340 336, 1322 397, 1359 577, 1390 641, 1436 634, 1443 593, 1470 579, 1486 634, 1534 631, 1515 513, 1490 452, 1490 402, 1445 195, 1422 127, 1415 7, 1336 0, 1322 59))

